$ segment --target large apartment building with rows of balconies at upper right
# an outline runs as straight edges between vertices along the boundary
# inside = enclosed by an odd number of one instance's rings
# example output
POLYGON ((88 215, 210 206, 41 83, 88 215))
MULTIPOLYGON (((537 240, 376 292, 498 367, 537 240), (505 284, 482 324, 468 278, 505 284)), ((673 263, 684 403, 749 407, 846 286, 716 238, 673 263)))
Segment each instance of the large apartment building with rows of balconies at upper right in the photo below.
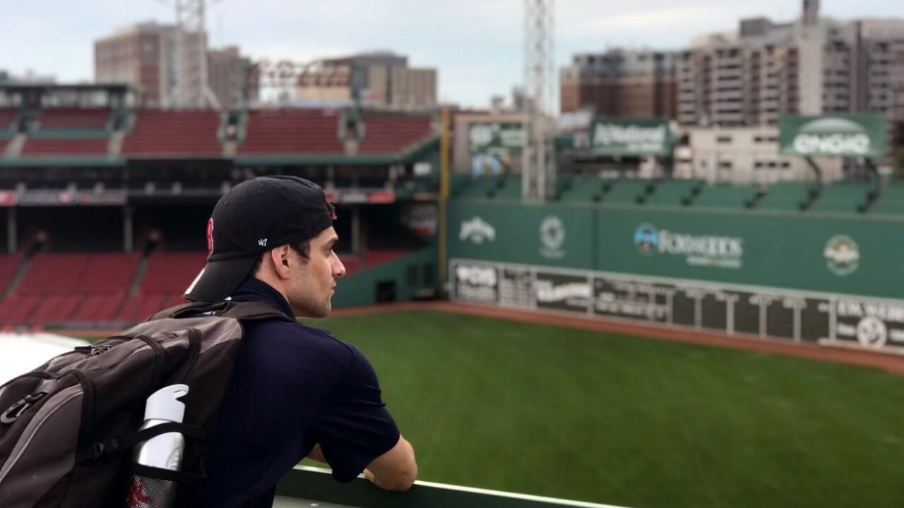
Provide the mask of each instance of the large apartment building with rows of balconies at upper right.
POLYGON ((904 20, 840 22, 804 0, 800 19, 741 20, 695 39, 677 63, 678 119, 692 126, 775 125, 787 113, 890 114, 904 20))

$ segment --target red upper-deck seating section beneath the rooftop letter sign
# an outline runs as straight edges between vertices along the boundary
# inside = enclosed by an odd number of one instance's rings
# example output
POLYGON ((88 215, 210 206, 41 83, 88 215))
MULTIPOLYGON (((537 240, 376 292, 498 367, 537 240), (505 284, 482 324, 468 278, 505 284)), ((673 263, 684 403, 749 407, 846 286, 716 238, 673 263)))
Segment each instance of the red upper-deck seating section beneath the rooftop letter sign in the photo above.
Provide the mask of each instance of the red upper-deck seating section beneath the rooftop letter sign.
POLYGON ((260 109, 250 111, 239 155, 342 154, 338 115, 320 109, 260 109))

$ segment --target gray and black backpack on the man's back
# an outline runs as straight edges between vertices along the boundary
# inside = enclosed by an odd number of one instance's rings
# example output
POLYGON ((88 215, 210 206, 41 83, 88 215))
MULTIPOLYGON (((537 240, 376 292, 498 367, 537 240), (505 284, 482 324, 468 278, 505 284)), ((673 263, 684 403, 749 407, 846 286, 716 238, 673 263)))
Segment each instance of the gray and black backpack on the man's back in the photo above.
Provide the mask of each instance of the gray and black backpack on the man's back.
POLYGON ((289 319, 261 302, 190 303, 63 353, 0 387, 0 506, 124 506, 130 474, 190 485, 203 478, 211 428, 242 337, 241 322, 289 319), (140 432, 145 400, 189 385, 184 422, 140 432), (182 471, 132 464, 131 447, 184 434, 182 471))

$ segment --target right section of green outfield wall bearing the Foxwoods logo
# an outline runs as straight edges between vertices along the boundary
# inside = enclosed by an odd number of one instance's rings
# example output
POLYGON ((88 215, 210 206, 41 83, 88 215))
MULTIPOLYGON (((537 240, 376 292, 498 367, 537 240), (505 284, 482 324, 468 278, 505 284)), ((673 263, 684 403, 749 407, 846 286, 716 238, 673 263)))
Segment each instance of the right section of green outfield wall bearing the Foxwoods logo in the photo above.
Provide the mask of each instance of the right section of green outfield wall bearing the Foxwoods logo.
POLYGON ((654 277, 904 297, 904 222, 600 210, 595 268, 654 277))

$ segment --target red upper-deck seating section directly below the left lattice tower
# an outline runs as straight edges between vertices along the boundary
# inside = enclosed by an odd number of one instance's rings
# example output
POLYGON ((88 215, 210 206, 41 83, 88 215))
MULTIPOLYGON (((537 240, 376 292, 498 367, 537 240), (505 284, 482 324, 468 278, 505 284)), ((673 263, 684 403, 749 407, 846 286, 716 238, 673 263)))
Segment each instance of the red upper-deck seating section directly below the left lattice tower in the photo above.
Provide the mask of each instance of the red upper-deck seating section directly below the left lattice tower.
POLYGON ((139 109, 123 141, 123 155, 220 157, 220 113, 213 110, 139 109))

